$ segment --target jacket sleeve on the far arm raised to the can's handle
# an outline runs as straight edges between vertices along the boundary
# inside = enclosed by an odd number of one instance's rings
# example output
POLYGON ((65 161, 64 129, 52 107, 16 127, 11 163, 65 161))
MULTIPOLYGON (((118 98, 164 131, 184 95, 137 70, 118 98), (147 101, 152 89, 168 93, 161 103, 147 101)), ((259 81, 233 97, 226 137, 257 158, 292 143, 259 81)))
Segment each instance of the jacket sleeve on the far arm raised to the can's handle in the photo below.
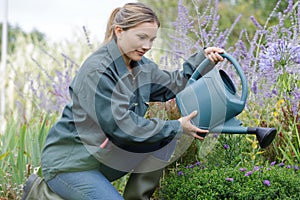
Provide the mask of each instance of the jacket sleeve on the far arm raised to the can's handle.
MULTIPOLYGON (((165 71, 155 70, 153 73, 153 83, 151 87, 151 101, 168 101, 176 96, 178 92, 184 89, 188 79, 192 76, 194 70, 206 59, 203 50, 190 56, 183 63, 183 70, 165 71)), ((214 63, 210 62, 209 68, 214 63)))

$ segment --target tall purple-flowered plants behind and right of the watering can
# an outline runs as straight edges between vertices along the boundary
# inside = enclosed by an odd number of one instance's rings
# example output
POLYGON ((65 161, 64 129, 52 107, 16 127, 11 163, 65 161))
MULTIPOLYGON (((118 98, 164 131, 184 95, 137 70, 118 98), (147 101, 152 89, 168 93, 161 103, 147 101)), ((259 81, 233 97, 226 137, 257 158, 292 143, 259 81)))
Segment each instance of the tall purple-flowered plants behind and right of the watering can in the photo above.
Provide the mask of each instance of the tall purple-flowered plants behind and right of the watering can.
MULTIPOLYGON (((246 109, 239 118, 245 126, 276 127, 279 134, 263 155, 269 160, 285 159, 278 148, 287 147, 284 141, 292 139, 295 146, 288 148, 289 151, 298 149, 299 146, 297 140, 299 137, 295 134, 299 134, 300 128, 300 4, 289 0, 287 8, 279 12, 282 1, 278 0, 264 24, 260 24, 254 16, 250 17, 249 20, 256 27, 253 37, 250 37, 245 28, 240 32, 234 45, 229 46, 230 34, 239 22, 240 16, 230 28, 220 31, 218 29, 220 15, 217 9, 219 2, 214 2, 212 5, 211 1, 207 1, 206 9, 200 13, 197 6, 199 2, 194 0, 197 13, 195 19, 189 16, 182 1, 178 1, 178 18, 174 24, 177 33, 176 43, 173 43, 176 45, 173 45, 173 52, 186 57, 186 54, 201 46, 220 46, 233 55, 242 66, 250 85, 246 109), (269 22, 274 21, 276 17, 277 23, 270 25, 269 22), (194 38, 192 44, 189 38, 194 38), (274 107, 278 104, 279 109, 274 107)), ((234 70, 231 70, 227 63, 222 63, 220 67, 225 68, 234 82, 239 83, 239 78, 232 73, 234 70)), ((250 149, 250 152, 253 151, 250 149)), ((258 146, 255 147, 255 154, 257 153, 261 154, 258 146)))

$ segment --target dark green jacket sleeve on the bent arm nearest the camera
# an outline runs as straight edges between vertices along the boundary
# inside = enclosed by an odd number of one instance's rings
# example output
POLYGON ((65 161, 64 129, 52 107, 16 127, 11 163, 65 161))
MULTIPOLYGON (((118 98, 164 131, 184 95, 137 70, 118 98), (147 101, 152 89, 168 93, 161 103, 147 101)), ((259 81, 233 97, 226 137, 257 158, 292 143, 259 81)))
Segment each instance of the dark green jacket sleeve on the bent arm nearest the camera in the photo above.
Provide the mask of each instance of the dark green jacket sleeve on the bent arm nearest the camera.
POLYGON ((93 71, 78 92, 82 109, 118 147, 137 153, 158 150, 182 134, 178 120, 146 119, 130 107, 126 87, 107 71, 93 71))

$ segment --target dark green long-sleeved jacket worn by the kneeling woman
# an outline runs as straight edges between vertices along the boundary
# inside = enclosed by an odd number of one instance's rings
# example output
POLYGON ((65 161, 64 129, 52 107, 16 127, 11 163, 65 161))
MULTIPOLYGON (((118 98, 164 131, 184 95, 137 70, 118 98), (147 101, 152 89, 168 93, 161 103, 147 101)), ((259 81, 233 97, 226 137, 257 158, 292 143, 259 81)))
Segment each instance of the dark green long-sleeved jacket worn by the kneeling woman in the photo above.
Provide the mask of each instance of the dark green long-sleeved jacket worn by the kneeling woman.
POLYGON ((102 163, 116 168, 125 162, 126 168, 118 170, 130 170, 147 153, 179 138, 178 120, 144 118, 148 102, 174 98, 204 59, 201 51, 183 64, 183 71, 168 72, 143 57, 131 63, 129 72, 115 41, 91 54, 69 87, 72 103, 47 136, 42 152, 45 180, 102 163), (107 138, 108 144, 100 148, 107 138))

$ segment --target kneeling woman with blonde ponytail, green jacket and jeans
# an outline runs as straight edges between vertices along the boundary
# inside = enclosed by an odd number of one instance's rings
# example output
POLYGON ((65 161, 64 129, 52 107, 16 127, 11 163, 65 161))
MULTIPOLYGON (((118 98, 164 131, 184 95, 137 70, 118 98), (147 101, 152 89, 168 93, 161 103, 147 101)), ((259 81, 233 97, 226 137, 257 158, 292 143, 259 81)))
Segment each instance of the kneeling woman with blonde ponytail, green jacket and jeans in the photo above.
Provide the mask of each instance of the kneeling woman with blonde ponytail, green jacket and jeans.
POLYGON ((197 139, 203 139, 197 133, 207 133, 191 124, 196 112, 169 121, 143 117, 147 102, 174 98, 206 57, 212 65, 223 60, 223 49, 209 47, 191 56, 183 71, 160 70, 144 57, 159 27, 144 4, 115 9, 104 45, 84 61, 70 85, 72 103, 50 130, 42 153, 45 180, 62 198, 123 199, 110 181, 128 172, 136 173, 124 198, 150 198, 161 169, 142 168, 147 156, 158 152, 161 160, 168 159, 170 153, 161 149, 170 144, 172 149, 183 133, 197 139))

